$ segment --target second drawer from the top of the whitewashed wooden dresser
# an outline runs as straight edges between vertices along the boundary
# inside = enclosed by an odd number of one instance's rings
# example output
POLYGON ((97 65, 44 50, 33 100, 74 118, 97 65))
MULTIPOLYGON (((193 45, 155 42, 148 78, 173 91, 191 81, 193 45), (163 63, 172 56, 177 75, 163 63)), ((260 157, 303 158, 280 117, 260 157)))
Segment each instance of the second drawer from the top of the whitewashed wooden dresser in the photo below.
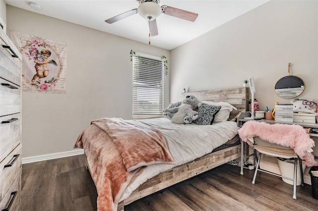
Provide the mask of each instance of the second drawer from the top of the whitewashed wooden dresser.
POLYGON ((20 87, 0 78, 0 116, 20 112, 20 87))

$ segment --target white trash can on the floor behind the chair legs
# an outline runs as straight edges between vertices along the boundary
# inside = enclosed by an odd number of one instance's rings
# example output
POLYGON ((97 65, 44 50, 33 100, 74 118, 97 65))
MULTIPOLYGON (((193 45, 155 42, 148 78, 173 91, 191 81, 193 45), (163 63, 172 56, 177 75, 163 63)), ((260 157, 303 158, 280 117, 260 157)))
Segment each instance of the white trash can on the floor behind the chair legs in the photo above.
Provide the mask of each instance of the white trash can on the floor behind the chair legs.
MULTIPOLYGON (((296 185, 299 186, 299 185, 301 185, 302 181, 300 178, 299 160, 297 160, 297 161, 298 162, 297 162, 297 182, 296 182, 296 185)), ((277 162, 278 162, 278 167, 280 170, 280 175, 293 179, 294 178, 295 160, 294 159, 285 159, 283 161, 283 160, 277 158, 277 162)), ((303 172, 304 172, 304 170, 306 169, 306 165, 302 164, 302 166, 303 166, 303 172)), ((292 181, 292 180, 285 179, 285 178, 282 178, 282 180, 288 184, 294 185, 294 181, 292 181)))

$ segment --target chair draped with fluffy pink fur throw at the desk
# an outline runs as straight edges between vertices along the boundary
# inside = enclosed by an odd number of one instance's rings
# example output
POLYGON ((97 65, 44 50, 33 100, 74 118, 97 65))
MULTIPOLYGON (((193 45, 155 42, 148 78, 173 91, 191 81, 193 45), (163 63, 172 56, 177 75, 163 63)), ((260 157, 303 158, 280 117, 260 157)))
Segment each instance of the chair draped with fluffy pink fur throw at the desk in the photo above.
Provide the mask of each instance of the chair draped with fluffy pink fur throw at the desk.
MULTIPOLYGON (((293 181, 294 193, 293 199, 296 198, 296 186, 297 186, 297 170, 299 160, 298 177, 301 179, 301 185, 304 186, 303 165, 304 161, 308 166, 317 165, 315 156, 312 154, 312 148, 315 147, 315 142, 310 138, 310 135, 306 132, 304 127, 300 124, 293 122, 276 122, 274 120, 261 119, 258 121, 244 119, 244 112, 238 118, 239 137, 241 140, 241 174, 243 174, 243 159, 249 156, 255 156, 257 160, 254 177, 252 184, 255 184, 258 171, 269 173, 275 176, 279 176, 284 180, 293 181), (242 118, 243 117, 243 118, 242 118), (247 143, 249 147, 253 148, 253 154, 243 156, 244 144, 247 143), (276 174, 274 172, 267 171, 260 168, 260 161, 263 155, 273 156, 276 158, 294 158, 294 176, 293 178, 287 178, 283 172, 283 175, 276 174)), ((247 114, 246 114, 247 115, 247 114)), ((315 128, 318 128, 318 124, 312 124, 315 128)), ((248 151, 247 151, 248 152, 248 151)), ((299 181, 298 181, 298 185, 299 181)))

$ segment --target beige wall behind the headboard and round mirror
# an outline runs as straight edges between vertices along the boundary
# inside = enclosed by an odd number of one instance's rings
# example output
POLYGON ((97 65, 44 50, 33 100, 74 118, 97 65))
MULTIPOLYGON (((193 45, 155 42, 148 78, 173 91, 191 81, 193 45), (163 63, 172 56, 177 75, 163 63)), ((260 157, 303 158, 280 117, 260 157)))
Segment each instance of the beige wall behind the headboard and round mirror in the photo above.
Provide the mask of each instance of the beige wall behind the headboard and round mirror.
POLYGON ((288 103, 274 91, 288 74, 305 81, 300 99, 318 103, 318 1, 272 0, 171 51, 170 101, 190 91, 242 86, 254 77, 261 110, 288 103))

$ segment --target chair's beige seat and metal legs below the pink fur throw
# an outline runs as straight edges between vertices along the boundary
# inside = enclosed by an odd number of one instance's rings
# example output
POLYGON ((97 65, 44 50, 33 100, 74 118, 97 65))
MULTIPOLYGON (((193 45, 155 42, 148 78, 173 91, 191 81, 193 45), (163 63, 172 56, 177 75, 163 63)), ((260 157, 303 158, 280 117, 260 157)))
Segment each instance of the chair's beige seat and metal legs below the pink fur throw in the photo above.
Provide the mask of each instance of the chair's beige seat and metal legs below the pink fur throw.
POLYGON ((254 143, 253 143, 253 149, 254 149, 254 154, 255 158, 257 160, 256 168, 255 168, 255 173, 254 177, 252 180, 252 184, 255 184, 256 180, 256 175, 258 171, 269 173, 275 176, 279 176, 288 180, 292 180, 294 182, 294 192, 293 192, 293 199, 296 198, 296 187, 297 187, 297 160, 299 160, 299 165, 300 165, 300 177, 301 177, 301 186, 304 186, 304 175, 303 175, 303 167, 302 167, 302 159, 295 153, 295 151, 292 148, 285 147, 282 145, 274 144, 274 143, 269 143, 265 140, 260 139, 259 137, 253 137, 254 138, 254 143), (288 178, 267 170, 260 169, 259 163, 261 161, 261 158, 263 155, 269 155, 273 157, 279 157, 279 158, 294 158, 294 178, 288 178))

